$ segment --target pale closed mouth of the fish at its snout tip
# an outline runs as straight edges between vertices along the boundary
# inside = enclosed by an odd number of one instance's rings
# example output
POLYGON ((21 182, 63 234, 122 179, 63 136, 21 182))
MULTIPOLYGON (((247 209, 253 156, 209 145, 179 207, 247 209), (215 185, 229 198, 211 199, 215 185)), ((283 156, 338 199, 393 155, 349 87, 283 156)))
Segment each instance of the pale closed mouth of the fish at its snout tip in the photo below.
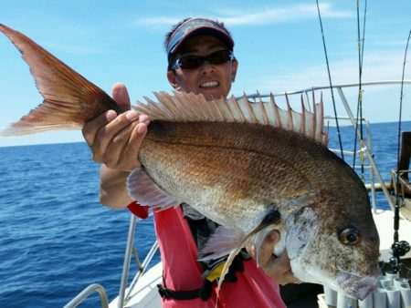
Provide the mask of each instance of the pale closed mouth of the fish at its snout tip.
POLYGON ((374 277, 360 277, 350 272, 342 272, 337 282, 348 296, 363 301, 369 293, 377 289, 378 280, 374 277))

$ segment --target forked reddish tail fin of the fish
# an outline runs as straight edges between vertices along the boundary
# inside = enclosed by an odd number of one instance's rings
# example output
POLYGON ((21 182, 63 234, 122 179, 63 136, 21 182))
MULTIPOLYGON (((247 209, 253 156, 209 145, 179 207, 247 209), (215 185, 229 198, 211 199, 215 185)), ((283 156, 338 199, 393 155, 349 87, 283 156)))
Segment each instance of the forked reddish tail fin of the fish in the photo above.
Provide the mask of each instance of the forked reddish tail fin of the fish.
POLYGON ((102 112, 121 108, 100 87, 38 46, 27 36, 0 24, 0 31, 20 51, 30 67, 42 104, 6 128, 3 136, 18 136, 52 129, 81 128, 102 112))

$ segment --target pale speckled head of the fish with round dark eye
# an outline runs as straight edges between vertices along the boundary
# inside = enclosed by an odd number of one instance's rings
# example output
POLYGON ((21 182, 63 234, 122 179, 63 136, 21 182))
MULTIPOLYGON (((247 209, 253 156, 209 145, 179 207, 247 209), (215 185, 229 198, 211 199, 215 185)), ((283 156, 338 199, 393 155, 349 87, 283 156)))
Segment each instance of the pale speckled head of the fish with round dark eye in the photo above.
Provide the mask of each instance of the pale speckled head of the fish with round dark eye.
POLYGON ((294 275, 363 300, 377 287, 379 238, 371 210, 364 218, 305 207, 287 221, 287 253, 294 275))

